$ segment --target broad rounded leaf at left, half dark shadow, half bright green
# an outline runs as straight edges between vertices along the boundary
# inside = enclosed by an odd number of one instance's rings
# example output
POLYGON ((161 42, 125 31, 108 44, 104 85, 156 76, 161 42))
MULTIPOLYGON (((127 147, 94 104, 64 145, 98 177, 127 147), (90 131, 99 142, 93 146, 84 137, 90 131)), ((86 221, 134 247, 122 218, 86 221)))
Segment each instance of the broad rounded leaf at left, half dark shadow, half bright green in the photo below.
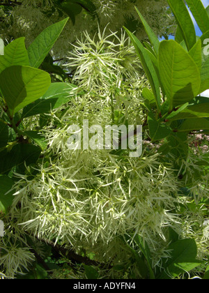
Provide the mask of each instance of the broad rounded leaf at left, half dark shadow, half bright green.
POLYGON ((43 96, 50 84, 48 73, 29 66, 11 66, 0 74, 0 89, 12 116, 43 96))

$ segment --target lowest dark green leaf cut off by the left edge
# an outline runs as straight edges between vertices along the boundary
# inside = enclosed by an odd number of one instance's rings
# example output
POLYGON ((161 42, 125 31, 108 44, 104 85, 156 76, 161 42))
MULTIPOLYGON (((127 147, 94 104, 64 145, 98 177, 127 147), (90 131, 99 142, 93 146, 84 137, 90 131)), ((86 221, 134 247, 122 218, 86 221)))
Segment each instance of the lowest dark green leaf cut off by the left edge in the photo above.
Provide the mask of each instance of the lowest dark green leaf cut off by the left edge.
POLYGON ((0 176, 0 213, 7 213, 13 203, 13 191, 10 191, 13 185, 13 180, 8 176, 0 176))

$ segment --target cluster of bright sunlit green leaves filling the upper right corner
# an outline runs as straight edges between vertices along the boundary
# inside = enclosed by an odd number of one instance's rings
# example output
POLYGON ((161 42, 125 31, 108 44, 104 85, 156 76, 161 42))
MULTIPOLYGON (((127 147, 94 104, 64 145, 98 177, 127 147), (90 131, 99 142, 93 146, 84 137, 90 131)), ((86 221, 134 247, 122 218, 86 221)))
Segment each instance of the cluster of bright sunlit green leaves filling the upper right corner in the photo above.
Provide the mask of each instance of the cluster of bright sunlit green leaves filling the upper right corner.
MULTIPOLYGON (((206 33, 209 29, 209 26, 207 27, 209 18, 205 8, 200 1, 189 1, 188 4, 196 21, 206 33), (201 21, 203 19, 200 17, 202 14, 205 20, 204 28, 201 21)), ((144 89, 143 94, 148 101, 145 106, 148 110, 150 137, 154 141, 168 137, 172 131, 189 133, 192 130, 208 130, 208 120, 206 120, 209 117, 208 100, 204 100, 206 102, 204 105, 199 105, 201 99, 197 102, 194 98, 209 88, 207 66, 209 58, 203 52, 203 42, 196 40, 194 24, 184 1, 169 1, 169 6, 178 22, 177 34, 179 36, 181 33, 183 40, 181 44, 176 40, 164 40, 160 43, 138 10, 153 50, 147 50, 147 46, 144 47, 140 40, 126 29, 153 91, 148 93, 144 89), (187 48, 183 47, 183 43, 187 48), (162 98, 159 87, 163 93, 162 98), (153 107, 152 96, 155 96, 156 109, 153 107), (175 120, 182 122, 172 123, 175 120)))

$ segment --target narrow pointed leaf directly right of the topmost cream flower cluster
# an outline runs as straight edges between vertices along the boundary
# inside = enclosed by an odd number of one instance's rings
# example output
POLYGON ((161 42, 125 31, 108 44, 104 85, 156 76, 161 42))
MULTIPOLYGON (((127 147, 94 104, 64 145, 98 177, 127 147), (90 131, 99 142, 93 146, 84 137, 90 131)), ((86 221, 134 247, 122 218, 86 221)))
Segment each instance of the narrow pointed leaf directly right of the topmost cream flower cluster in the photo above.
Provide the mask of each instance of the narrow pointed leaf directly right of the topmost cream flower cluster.
POLYGON ((130 36, 130 39, 132 40, 135 50, 137 51, 141 64, 146 73, 146 77, 148 78, 150 86, 153 89, 157 107, 160 108, 160 82, 158 80, 156 70, 153 66, 153 62, 150 59, 150 55, 147 52, 148 50, 144 48, 140 40, 136 36, 134 36, 133 33, 131 33, 128 29, 125 30, 127 31, 128 36, 130 36))

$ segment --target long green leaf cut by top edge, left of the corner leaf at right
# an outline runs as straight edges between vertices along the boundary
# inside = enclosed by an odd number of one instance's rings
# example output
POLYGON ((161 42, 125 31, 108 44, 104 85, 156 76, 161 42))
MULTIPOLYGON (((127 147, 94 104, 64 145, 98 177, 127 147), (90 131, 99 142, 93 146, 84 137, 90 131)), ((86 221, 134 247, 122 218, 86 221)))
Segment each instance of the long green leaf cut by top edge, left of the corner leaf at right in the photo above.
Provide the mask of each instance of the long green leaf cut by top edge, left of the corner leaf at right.
POLYGON ((191 50, 196 43, 196 32, 192 18, 185 6, 184 0, 168 0, 169 6, 176 17, 178 27, 187 45, 187 49, 191 50))

